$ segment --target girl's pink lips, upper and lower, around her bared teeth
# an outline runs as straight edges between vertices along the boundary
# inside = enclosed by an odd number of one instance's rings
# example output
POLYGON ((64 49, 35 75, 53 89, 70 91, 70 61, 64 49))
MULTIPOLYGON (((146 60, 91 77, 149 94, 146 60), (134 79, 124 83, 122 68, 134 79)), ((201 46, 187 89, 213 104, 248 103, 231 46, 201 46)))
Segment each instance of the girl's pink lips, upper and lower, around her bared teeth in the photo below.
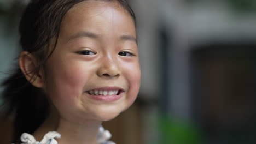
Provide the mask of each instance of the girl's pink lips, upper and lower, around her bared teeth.
POLYGON ((90 99, 97 100, 97 101, 106 101, 106 102, 111 102, 111 101, 117 101, 121 97, 123 97, 124 94, 124 89, 120 87, 100 87, 100 88, 94 88, 86 91, 86 94, 90 99), (88 92, 92 90, 98 90, 98 91, 112 91, 112 90, 118 90, 117 95, 91 95, 88 92))

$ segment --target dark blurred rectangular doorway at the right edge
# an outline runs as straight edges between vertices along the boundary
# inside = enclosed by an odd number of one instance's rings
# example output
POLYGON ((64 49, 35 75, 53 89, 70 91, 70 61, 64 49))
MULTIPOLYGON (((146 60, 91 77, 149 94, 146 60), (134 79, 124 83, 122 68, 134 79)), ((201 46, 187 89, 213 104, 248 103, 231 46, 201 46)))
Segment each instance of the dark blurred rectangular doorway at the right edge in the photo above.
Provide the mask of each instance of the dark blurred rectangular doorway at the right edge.
POLYGON ((256 143, 256 44, 195 46, 191 70, 205 143, 256 143))

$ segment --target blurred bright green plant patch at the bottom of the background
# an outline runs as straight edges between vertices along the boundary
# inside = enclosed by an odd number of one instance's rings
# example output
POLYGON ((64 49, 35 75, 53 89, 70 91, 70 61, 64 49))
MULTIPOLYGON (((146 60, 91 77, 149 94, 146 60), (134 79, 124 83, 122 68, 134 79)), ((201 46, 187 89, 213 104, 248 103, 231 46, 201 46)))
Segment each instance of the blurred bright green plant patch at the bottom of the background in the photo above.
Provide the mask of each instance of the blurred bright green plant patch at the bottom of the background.
POLYGON ((201 131, 195 124, 178 121, 166 116, 159 117, 159 128, 162 144, 200 144, 201 131))

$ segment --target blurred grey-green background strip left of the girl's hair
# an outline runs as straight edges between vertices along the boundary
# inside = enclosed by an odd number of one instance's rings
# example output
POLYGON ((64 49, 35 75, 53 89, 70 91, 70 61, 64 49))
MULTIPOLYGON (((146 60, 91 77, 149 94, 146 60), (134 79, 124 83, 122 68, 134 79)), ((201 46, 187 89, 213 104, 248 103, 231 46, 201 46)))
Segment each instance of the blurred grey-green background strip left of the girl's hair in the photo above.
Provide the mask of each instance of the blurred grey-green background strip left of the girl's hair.
POLYGON ((14 59, 19 53, 18 23, 22 5, 13 2, 0 2, 0 82, 12 73, 14 59))

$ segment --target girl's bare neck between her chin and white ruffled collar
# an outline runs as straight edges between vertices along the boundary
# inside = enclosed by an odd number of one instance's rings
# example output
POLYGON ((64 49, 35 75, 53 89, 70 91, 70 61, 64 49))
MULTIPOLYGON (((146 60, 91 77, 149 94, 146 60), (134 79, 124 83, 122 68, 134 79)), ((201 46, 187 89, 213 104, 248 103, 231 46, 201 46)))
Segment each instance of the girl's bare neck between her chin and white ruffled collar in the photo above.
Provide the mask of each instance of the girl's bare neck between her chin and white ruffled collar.
POLYGON ((83 124, 75 124, 51 112, 33 135, 37 141, 40 141, 49 131, 57 131, 61 134, 61 139, 57 139, 59 144, 97 144, 98 129, 101 123, 100 121, 86 121, 83 124))

